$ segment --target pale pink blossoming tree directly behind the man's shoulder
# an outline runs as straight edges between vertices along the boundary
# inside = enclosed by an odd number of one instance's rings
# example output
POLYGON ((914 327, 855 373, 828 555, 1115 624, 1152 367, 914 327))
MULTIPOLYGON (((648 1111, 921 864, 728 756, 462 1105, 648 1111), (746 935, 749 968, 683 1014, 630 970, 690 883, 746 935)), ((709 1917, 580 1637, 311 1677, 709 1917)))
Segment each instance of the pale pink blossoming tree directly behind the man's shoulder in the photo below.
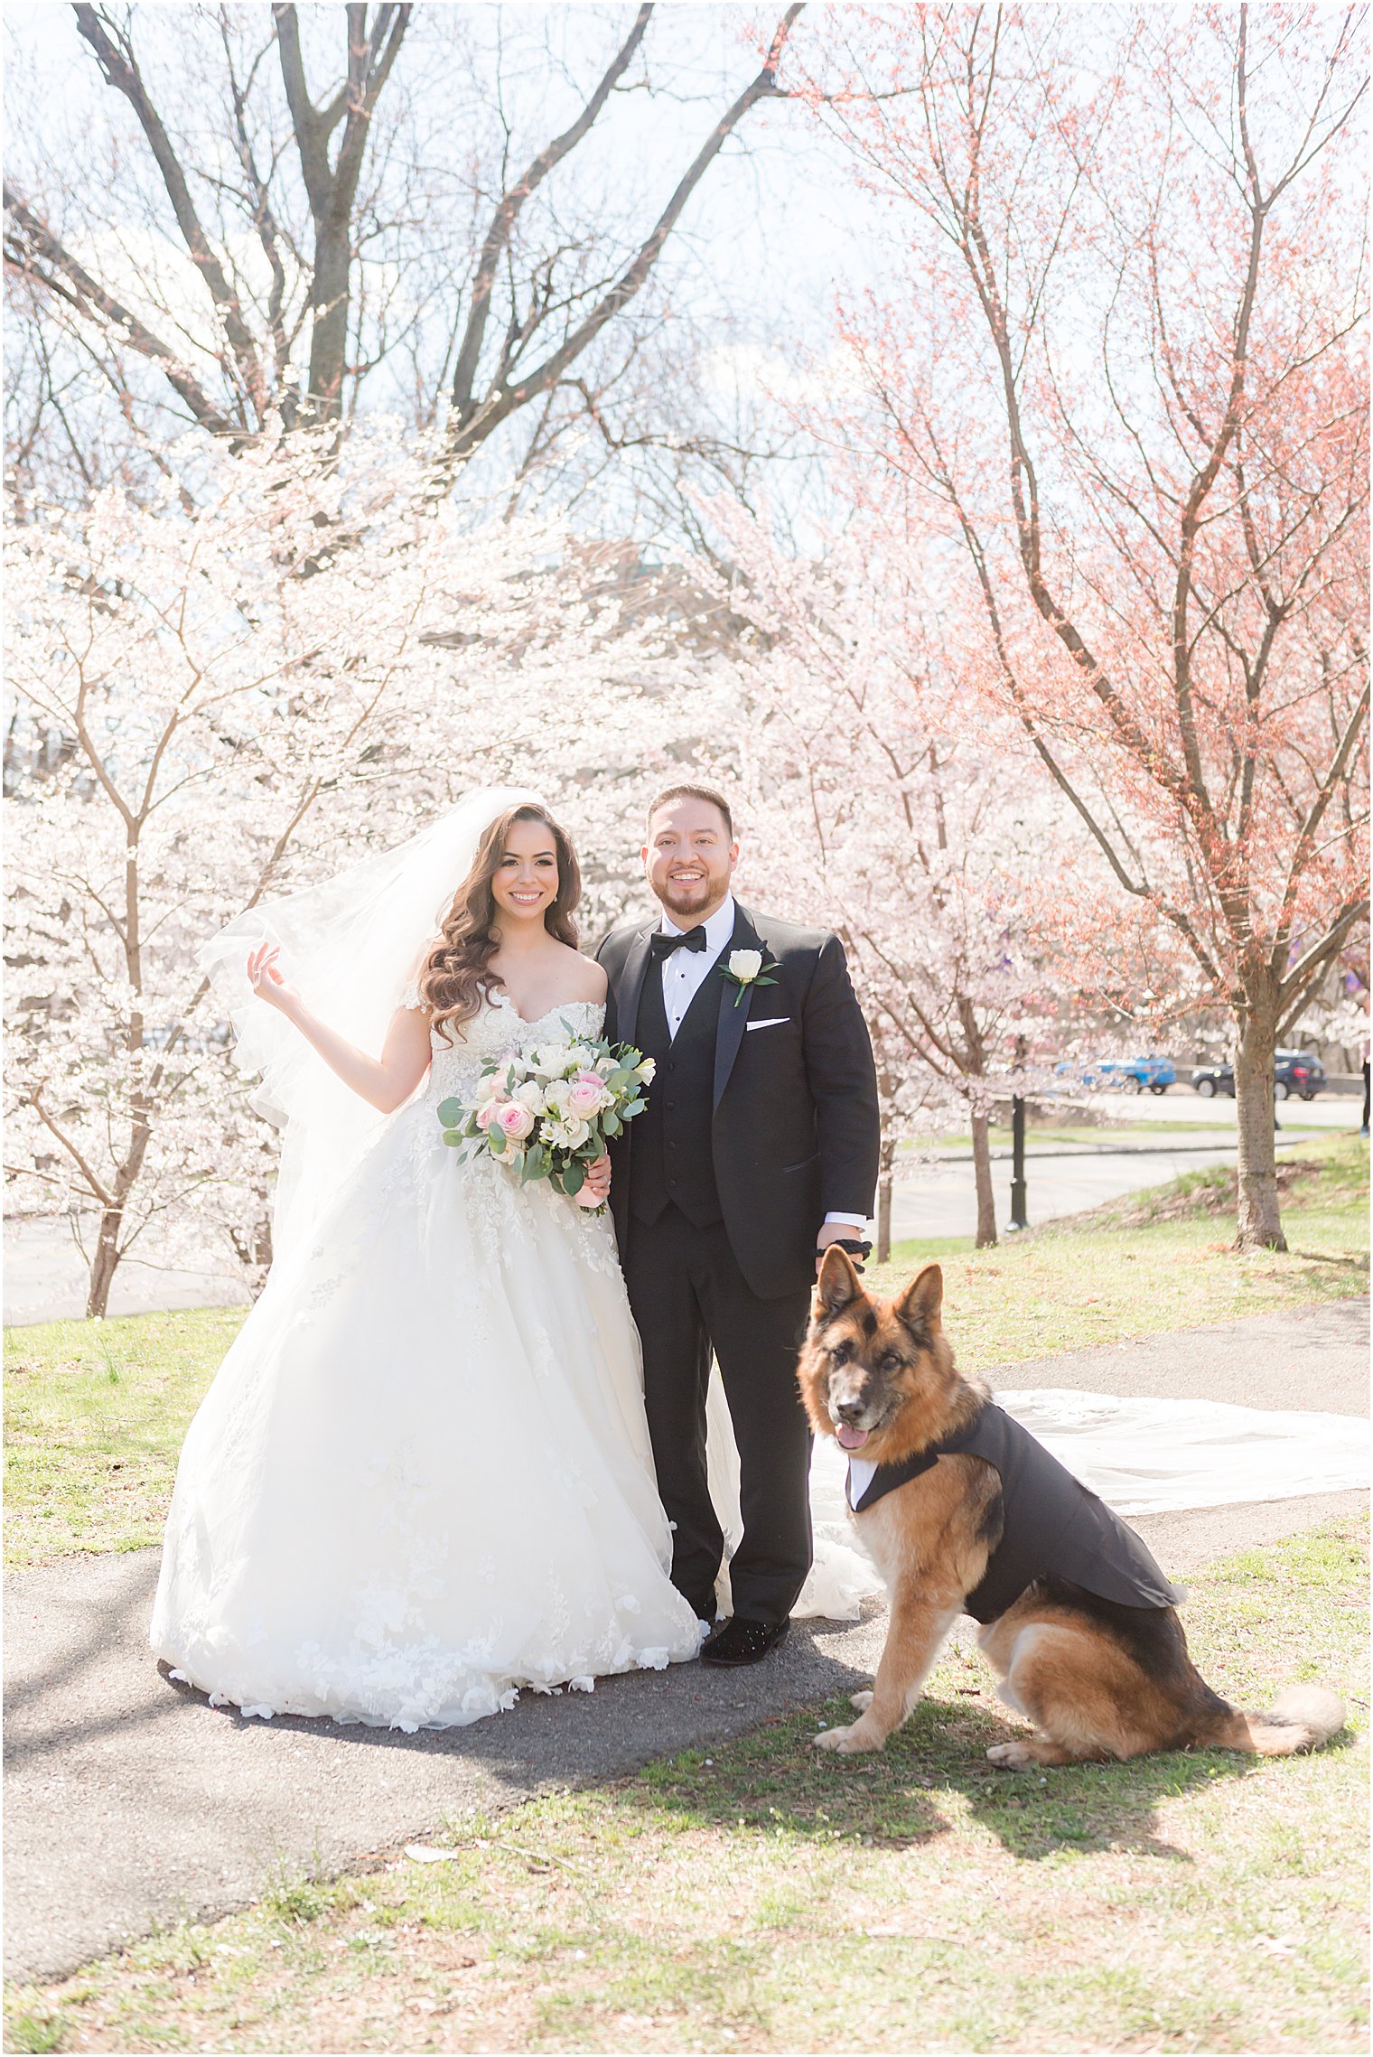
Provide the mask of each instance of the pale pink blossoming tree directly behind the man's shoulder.
POLYGON ((882 1092, 880 1255, 896 1148, 952 1109, 972 1131, 980 1249, 997 1240, 993 1100, 1038 1082, 1067 991, 1034 891, 1063 808, 1011 722, 968 722, 976 642, 931 609, 911 537, 869 527, 804 560, 736 504, 709 512, 748 623, 746 882, 845 940, 882 1092))

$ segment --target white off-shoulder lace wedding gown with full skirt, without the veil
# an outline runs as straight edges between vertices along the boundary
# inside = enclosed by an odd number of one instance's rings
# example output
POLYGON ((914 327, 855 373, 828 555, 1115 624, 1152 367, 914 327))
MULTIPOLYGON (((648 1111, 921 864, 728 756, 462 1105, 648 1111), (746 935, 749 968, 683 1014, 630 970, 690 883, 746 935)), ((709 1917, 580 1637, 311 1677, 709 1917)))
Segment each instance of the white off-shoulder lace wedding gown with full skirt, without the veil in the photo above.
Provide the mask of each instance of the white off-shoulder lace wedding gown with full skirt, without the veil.
POLYGON ((434 1037, 273 1265, 185 1440, 152 1617, 216 1703, 438 1728, 697 1654, 610 1222, 460 1164, 436 1119, 483 1059, 602 1018, 497 991, 434 1037))

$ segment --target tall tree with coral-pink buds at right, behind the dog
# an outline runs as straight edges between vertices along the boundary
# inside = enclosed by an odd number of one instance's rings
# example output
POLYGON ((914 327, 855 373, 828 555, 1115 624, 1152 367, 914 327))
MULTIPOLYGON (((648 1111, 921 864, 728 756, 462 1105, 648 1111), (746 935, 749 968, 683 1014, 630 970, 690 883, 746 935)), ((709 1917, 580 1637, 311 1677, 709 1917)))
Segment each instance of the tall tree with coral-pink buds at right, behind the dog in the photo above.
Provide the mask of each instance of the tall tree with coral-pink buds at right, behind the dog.
POLYGON ((1367 919, 1359 23, 851 8, 810 60, 902 245, 830 434, 943 522, 987 699, 1229 1008, 1239 1247, 1283 1247, 1274 1047, 1367 919))

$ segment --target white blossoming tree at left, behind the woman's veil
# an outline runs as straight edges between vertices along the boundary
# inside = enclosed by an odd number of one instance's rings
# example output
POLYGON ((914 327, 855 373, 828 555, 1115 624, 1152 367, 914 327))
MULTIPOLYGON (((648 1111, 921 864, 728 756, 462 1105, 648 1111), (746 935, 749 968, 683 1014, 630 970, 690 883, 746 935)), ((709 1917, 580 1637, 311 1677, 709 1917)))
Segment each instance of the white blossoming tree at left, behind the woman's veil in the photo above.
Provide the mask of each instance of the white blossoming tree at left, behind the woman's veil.
POLYGON ((643 773, 678 720, 713 726, 709 666, 627 623, 555 527, 460 531, 434 461, 380 432, 343 465, 197 438, 160 504, 107 488, 12 535, 6 1162, 27 1207, 95 1222, 92 1314, 140 1240, 210 1222, 267 1257, 271 1138, 197 942, 512 778, 567 802, 602 854, 592 919, 615 913, 643 773))

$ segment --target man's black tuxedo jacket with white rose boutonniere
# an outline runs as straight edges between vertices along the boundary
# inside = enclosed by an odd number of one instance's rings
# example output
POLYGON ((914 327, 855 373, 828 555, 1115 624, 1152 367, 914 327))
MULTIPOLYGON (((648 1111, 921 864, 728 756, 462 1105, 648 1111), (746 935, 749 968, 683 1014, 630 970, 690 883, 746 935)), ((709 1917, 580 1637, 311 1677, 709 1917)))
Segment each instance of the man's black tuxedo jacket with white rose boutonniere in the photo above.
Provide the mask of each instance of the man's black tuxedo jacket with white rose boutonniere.
MULTIPOLYGON (((658 915, 627 924, 596 950, 610 981, 606 1035, 623 1043, 635 1041, 650 936, 658 926, 658 915)), ((711 1123, 730 1247, 752 1292, 775 1300, 814 1286, 816 1230, 826 1214, 874 1210, 878 1078, 839 936, 738 907, 734 936, 711 979, 723 975, 730 950, 763 950, 765 975, 775 983, 750 985, 738 1006, 738 987, 728 983, 715 1033, 713 1098, 701 1113, 711 1123)), ((633 1123, 613 1144, 610 1160, 610 1212, 625 1249, 633 1123)))

